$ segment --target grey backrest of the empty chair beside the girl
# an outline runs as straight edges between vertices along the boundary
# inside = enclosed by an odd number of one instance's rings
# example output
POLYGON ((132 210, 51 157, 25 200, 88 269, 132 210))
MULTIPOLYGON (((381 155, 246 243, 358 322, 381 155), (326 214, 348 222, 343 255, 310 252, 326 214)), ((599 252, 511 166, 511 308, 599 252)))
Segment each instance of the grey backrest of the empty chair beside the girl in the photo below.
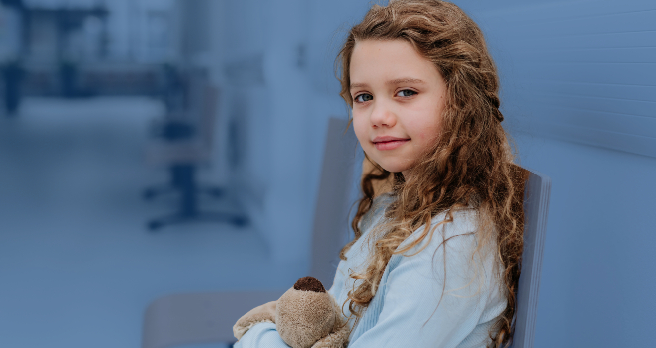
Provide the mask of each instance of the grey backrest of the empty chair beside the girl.
POLYGON ((312 231, 310 276, 326 289, 333 286, 339 251, 348 234, 348 202, 351 193, 358 139, 348 120, 331 118, 328 123, 319 192, 312 231))

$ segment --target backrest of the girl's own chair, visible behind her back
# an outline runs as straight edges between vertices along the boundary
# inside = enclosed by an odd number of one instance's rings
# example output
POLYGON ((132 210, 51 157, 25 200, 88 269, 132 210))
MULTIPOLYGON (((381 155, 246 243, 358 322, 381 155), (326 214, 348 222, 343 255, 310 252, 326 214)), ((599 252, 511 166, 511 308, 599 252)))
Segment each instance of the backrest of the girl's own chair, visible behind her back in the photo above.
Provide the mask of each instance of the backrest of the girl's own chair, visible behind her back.
POLYGON ((525 169, 524 177, 524 250, 522 274, 517 291, 513 348, 533 348, 551 190, 551 179, 543 173, 525 169))

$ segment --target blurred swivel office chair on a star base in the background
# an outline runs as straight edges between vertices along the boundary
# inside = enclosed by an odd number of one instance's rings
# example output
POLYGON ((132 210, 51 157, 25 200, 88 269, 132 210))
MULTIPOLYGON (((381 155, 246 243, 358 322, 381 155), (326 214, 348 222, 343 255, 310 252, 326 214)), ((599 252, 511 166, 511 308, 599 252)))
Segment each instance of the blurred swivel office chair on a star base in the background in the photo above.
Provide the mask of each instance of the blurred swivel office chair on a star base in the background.
POLYGON ((199 194, 220 197, 224 190, 216 186, 199 185, 196 170, 211 160, 216 104, 218 91, 202 74, 190 74, 186 91, 186 105, 181 110, 169 112, 154 125, 155 139, 150 142, 146 157, 148 162, 169 167, 171 181, 166 185, 144 190, 144 198, 152 199, 161 194, 179 195, 176 213, 153 219, 148 223, 152 230, 186 221, 219 221, 245 225, 248 218, 243 213, 226 211, 201 211, 199 194))

